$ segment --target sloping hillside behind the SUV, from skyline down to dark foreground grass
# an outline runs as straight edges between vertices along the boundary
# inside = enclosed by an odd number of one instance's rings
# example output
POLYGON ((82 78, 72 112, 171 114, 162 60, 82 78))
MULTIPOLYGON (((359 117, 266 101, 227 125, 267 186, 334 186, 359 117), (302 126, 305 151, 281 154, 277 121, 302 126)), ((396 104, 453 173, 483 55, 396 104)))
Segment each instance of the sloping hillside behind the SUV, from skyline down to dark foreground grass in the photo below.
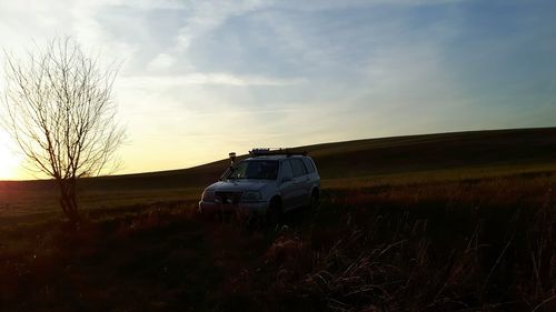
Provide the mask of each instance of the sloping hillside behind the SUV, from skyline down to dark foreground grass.
MULTIPOLYGON (((407 135, 296 149, 315 159, 325 189, 556 172, 556 128, 407 135)), ((81 202, 86 208, 195 202, 227 165, 229 160, 222 159, 190 169, 83 179, 81 202)), ((0 182, 0 214, 57 209, 56 194, 51 181, 0 182)))

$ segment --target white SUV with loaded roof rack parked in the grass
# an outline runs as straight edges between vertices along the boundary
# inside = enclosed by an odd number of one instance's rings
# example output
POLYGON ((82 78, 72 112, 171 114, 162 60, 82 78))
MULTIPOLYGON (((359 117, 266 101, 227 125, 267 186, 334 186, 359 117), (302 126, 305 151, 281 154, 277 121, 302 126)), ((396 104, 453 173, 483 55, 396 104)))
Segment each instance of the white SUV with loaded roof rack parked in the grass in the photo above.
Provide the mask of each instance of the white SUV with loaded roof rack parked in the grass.
POLYGON ((199 211, 242 211, 278 219, 285 211, 318 207, 320 177, 311 158, 288 150, 258 149, 234 163, 202 192, 199 211))

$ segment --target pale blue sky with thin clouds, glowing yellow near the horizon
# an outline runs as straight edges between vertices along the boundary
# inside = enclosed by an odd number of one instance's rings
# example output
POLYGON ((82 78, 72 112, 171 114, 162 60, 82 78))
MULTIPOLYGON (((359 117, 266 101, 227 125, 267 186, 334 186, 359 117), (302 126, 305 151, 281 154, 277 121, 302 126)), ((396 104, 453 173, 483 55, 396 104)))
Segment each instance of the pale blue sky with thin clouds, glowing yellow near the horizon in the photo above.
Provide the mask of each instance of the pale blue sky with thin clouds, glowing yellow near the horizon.
MULTIPOLYGON (((254 147, 555 127, 555 16, 548 0, 0 0, 0 46, 70 36, 121 62, 130 173, 254 147)), ((21 160, 0 131, 0 179, 34 178, 21 160)))

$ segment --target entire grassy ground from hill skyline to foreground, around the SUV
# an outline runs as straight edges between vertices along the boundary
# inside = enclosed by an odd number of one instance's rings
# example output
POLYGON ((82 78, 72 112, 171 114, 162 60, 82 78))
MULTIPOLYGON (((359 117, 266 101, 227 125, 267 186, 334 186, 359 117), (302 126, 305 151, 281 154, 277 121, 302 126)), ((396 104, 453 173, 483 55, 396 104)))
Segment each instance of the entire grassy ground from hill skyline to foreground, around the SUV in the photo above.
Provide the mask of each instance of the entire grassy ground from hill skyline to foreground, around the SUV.
POLYGON ((556 129, 301 148, 322 203, 269 229, 196 213, 227 161, 0 184, 2 311, 555 311, 556 129))

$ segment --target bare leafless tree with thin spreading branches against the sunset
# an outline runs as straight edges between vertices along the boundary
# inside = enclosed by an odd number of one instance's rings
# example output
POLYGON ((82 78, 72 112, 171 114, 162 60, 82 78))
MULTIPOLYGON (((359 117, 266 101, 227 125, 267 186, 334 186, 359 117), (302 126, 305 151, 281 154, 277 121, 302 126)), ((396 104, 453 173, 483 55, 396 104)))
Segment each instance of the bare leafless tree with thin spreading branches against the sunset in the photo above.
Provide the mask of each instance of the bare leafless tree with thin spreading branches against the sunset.
POLYGON ((54 179, 66 217, 79 221, 79 178, 105 173, 125 131, 116 122, 117 68, 101 68, 70 38, 56 39, 23 59, 4 51, 1 122, 28 163, 54 179))

